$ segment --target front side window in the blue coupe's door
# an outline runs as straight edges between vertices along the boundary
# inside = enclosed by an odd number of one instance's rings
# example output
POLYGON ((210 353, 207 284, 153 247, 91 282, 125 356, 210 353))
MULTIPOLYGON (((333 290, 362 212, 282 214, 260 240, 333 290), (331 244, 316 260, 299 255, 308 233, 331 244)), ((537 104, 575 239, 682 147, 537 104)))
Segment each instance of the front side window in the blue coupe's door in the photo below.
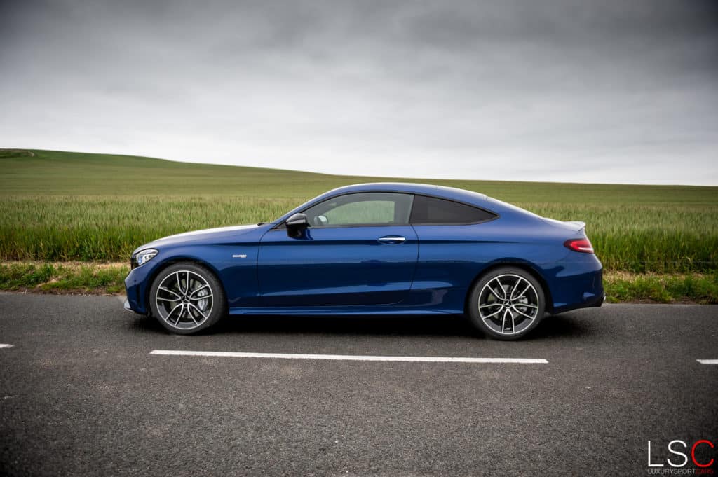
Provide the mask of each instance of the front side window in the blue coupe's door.
POLYGON ((414 196, 397 192, 362 192, 325 200, 304 211, 312 227, 407 225, 414 196))

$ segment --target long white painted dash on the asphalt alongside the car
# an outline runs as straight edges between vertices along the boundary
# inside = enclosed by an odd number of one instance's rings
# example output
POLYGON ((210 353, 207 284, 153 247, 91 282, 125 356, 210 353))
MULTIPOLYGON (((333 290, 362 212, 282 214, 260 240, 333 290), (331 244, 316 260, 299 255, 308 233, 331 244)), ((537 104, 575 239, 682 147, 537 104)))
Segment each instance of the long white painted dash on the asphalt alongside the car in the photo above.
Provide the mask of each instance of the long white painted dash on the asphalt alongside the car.
POLYGON ((449 356, 362 356, 360 354, 241 353, 235 351, 185 351, 154 349, 150 354, 169 356, 215 356, 223 358, 331 359, 335 361, 393 361, 421 363, 519 363, 547 364, 543 358, 457 358, 449 356))

